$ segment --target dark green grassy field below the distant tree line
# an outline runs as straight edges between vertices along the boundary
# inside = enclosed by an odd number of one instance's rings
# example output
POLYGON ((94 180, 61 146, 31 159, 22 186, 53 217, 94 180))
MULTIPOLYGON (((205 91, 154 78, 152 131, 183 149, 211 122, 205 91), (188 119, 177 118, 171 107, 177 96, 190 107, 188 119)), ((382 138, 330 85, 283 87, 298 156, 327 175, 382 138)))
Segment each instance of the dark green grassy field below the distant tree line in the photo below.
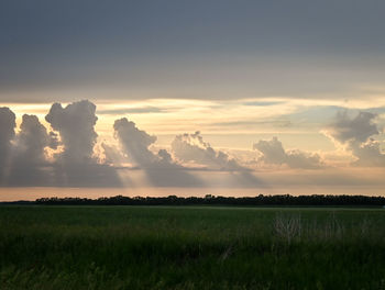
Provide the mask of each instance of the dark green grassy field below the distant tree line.
POLYGON ((0 207, 0 289, 385 289, 385 210, 0 207))

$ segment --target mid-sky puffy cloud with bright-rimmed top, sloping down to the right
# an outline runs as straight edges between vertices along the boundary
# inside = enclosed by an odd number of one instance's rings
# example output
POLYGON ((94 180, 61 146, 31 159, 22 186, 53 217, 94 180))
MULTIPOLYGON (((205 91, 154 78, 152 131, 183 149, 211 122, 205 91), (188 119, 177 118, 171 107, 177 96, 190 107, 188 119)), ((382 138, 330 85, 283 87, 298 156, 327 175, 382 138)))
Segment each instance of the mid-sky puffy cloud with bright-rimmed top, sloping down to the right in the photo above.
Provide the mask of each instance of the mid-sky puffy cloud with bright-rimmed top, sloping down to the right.
POLYGON ((199 131, 194 134, 177 135, 172 143, 172 149, 174 155, 184 163, 194 163, 218 170, 246 170, 228 154, 213 149, 204 141, 199 131))

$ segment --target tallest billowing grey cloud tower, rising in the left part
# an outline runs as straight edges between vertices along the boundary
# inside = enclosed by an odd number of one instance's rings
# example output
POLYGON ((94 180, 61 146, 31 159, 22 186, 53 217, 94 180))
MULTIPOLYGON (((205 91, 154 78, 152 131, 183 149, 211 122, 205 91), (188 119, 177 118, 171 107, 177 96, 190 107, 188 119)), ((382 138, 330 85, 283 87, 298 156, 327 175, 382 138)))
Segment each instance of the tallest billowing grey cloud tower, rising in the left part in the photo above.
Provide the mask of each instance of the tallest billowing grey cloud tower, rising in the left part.
POLYGON ((64 145, 62 157, 69 163, 84 163, 92 159, 98 134, 95 124, 96 105, 87 100, 74 102, 63 108, 54 103, 45 120, 61 134, 64 145))

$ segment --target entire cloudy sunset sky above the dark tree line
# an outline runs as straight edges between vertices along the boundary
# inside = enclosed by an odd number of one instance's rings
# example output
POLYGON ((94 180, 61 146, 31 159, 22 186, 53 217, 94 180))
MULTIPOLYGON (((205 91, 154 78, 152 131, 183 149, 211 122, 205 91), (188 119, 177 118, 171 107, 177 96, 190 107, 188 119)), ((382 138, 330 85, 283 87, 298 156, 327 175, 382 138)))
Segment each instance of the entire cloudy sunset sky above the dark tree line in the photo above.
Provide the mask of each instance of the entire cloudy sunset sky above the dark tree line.
POLYGON ((384 196, 384 9, 1 1, 0 200, 384 196))

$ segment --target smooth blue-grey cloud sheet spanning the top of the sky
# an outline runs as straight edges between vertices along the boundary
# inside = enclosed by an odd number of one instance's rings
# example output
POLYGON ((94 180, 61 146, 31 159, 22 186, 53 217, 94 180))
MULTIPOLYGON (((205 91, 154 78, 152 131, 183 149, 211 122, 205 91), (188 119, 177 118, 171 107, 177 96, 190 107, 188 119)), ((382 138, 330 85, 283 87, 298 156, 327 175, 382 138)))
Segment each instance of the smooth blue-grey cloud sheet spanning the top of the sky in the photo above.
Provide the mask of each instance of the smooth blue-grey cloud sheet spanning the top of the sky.
MULTIPOLYGON (((384 9, 377 0, 6 0, 0 87, 63 91, 139 83, 156 88, 153 98, 162 96, 162 83, 205 89, 229 82, 237 90, 256 83, 252 96, 345 91, 355 83, 382 83, 384 9)), ((239 91, 193 94, 231 99, 239 91)), ((42 98, 56 97, 25 93, 12 101, 42 98)))

